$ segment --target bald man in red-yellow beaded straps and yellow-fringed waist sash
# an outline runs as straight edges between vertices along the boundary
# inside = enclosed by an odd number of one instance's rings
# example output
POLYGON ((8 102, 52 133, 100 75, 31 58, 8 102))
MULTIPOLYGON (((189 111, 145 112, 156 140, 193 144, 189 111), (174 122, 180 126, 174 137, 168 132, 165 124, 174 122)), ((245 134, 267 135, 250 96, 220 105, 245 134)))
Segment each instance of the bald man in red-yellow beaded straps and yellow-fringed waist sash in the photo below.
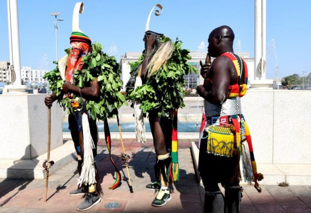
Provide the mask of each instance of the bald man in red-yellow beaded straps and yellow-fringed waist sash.
POLYGON ((240 97, 247 89, 247 66, 234 54, 235 38, 229 26, 214 29, 209 36, 209 54, 201 62, 204 85, 197 87, 204 98, 206 125, 201 138, 199 172, 205 189, 204 212, 239 212, 242 188, 239 185, 240 158, 243 159, 244 179, 257 183, 252 143, 241 110, 240 97), (208 57, 214 57, 212 65, 208 57), (225 188, 222 195, 218 183, 225 188))

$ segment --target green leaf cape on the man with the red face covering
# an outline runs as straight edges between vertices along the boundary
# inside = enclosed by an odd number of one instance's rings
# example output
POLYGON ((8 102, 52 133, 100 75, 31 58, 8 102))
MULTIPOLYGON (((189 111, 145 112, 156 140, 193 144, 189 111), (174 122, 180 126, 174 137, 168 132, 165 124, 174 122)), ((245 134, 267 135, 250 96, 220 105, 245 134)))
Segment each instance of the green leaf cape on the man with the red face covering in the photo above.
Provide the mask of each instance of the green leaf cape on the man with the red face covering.
MULTIPOLYGON (((102 51, 102 48, 101 44, 94 42, 91 52, 82 59, 84 62, 82 70, 75 71, 73 76, 73 83, 80 88, 90 86, 90 82, 97 77, 100 88, 99 96, 86 103, 86 110, 90 111, 93 120, 114 117, 123 103, 127 105, 125 97, 120 93, 123 83, 120 78, 119 64, 115 57, 108 56, 102 51)), ((65 52, 69 55, 70 48, 65 52)), ((57 62, 54 63, 57 64, 57 62)), ((64 82, 58 66, 43 77, 47 79, 50 90, 57 95, 57 100, 64 110, 68 109, 68 114, 72 113, 70 99, 64 98, 62 90, 64 82)), ((79 103, 82 106, 82 97, 74 94, 73 98, 75 97, 79 97, 79 103)))

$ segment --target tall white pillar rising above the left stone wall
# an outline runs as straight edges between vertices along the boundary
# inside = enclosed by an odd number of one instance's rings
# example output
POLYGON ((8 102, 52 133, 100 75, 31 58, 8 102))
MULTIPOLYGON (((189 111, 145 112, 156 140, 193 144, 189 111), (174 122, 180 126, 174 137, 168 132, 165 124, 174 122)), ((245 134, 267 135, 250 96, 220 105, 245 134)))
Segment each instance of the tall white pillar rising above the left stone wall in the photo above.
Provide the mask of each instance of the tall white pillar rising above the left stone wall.
POLYGON ((18 32, 18 11, 17 0, 8 0, 8 22, 9 22, 9 40, 11 65, 14 65, 16 79, 13 82, 14 86, 21 85, 20 78, 20 54, 19 54, 19 32, 18 32))

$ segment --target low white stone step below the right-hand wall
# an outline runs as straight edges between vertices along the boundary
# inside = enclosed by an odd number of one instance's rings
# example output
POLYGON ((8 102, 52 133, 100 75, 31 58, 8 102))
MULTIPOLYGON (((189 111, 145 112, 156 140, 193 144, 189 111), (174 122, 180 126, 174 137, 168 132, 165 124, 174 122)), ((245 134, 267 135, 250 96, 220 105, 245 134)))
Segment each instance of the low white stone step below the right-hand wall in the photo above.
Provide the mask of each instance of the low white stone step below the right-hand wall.
MULTIPOLYGON (((197 179, 201 182, 198 172, 199 149, 197 142, 191 142, 191 152, 197 179)), ((311 164, 257 164, 257 171, 264 174, 260 184, 277 185, 281 182, 290 185, 310 185, 311 164)))

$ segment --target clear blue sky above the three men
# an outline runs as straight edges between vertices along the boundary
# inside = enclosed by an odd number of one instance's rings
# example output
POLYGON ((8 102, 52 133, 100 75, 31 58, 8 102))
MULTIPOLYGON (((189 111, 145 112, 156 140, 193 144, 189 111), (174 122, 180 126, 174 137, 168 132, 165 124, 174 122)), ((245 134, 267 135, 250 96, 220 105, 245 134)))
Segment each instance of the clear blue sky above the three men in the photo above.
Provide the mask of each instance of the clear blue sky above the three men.
MULTIPOLYGON (((56 59, 53 12, 58 18, 59 58, 70 46, 72 12, 77 1, 18 1, 20 59, 22 66, 53 69, 56 59)), ((235 51, 254 57, 254 1, 252 0, 132 0, 83 1, 80 29, 104 51, 117 59, 126 51, 141 51, 145 23, 150 9, 160 3, 163 13, 151 17, 150 30, 182 40, 184 48, 204 50, 209 33, 220 25, 235 32, 235 51), (204 42, 204 43, 203 43, 204 42)), ((267 0, 267 77, 311 72, 311 1, 267 0)), ((0 61, 9 61, 7 1, 0 0, 0 61)), ((206 50, 206 49, 205 49, 206 50)))

